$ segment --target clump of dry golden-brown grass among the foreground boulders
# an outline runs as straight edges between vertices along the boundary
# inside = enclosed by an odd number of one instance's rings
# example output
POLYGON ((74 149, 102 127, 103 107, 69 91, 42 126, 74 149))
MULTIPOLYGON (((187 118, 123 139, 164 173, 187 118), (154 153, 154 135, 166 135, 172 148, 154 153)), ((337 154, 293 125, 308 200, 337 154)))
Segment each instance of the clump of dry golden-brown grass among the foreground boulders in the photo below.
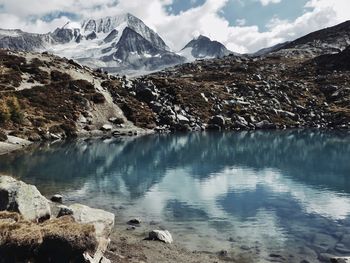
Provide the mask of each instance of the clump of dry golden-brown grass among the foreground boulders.
POLYGON ((96 247, 94 226, 73 217, 35 224, 0 212, 0 262, 79 262, 83 252, 94 253, 96 247))

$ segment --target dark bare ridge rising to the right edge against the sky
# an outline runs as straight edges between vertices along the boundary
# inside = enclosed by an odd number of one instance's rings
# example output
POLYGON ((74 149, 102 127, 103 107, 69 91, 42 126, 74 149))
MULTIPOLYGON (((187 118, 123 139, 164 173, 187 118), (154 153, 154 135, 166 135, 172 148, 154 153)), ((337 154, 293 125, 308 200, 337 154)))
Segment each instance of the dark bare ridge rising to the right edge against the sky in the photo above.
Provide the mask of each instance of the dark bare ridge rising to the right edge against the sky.
POLYGON ((350 45, 350 21, 312 32, 291 42, 258 51, 258 55, 277 54, 288 57, 314 57, 338 53, 350 45))

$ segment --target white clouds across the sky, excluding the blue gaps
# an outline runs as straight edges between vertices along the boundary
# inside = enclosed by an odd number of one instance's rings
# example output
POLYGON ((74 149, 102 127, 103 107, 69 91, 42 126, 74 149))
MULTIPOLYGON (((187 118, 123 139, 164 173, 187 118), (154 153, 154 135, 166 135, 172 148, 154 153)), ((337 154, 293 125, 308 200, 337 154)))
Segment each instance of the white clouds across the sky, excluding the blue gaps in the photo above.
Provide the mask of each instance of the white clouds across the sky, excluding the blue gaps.
MULTIPOLYGON (((48 32, 64 25, 69 19, 61 17, 45 22, 40 17, 52 12, 69 12, 79 18, 104 17, 130 12, 156 30, 174 50, 181 49, 198 34, 221 41, 236 52, 254 52, 260 48, 292 40, 312 31, 350 19, 349 0, 310 0, 304 13, 294 21, 272 17, 264 32, 258 26, 236 26, 221 16, 229 0, 206 0, 204 4, 169 14, 167 6, 173 0, 31 0, 30 8, 24 0, 0 0, 3 6, 0 25, 4 28, 21 28, 30 32, 48 32), (37 19, 34 19, 36 18, 37 19)), ((263 5, 279 0, 259 0, 263 5)))

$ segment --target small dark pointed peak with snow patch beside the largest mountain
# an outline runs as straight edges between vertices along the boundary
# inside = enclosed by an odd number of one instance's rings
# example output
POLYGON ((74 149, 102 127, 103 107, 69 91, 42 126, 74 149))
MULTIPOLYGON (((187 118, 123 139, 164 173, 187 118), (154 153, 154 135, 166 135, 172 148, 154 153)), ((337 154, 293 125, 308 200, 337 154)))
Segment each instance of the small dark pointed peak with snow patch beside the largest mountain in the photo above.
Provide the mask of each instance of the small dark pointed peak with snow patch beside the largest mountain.
POLYGON ((220 42, 200 35, 191 40, 178 54, 186 57, 189 61, 194 61, 196 59, 222 58, 232 53, 220 42))

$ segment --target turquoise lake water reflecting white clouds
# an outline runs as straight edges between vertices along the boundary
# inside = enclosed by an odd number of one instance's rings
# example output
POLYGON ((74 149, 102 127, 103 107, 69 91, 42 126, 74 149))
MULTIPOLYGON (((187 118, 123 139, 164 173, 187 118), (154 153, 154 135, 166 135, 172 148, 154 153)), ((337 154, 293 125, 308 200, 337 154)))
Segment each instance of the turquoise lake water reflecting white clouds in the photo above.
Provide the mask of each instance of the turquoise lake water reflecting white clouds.
POLYGON ((350 255, 350 134, 152 135, 35 147, 0 173, 250 262, 350 255), (249 261, 248 260, 248 261, 249 261))

